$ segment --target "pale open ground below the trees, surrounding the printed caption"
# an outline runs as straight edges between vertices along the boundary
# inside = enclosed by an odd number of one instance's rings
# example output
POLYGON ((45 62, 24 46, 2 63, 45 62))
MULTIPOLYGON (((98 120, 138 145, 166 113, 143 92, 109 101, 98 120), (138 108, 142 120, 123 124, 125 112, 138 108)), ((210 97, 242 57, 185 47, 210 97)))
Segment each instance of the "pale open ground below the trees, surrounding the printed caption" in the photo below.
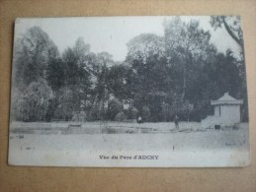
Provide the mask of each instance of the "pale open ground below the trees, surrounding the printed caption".
MULTIPOLYGON (((132 125, 132 123, 107 124, 119 126, 119 129, 132 125)), ((29 133, 14 133, 12 130, 18 127, 12 127, 9 145, 11 164, 155 166, 153 162, 114 163, 113 160, 98 160, 102 154, 127 156, 156 154, 163 160, 160 166, 235 166, 248 163, 247 123, 241 124, 237 130, 202 130, 198 127, 199 123, 181 123, 180 131, 174 129, 173 123, 132 125, 136 127, 135 129, 143 127, 154 130, 146 132, 147 134, 77 134, 75 132, 62 134, 59 130, 67 129, 66 123, 57 123, 51 128, 45 125, 49 124, 41 123, 38 126, 37 123, 27 125, 19 123, 19 128, 24 130, 28 128, 31 130, 29 133), (35 126, 38 127, 39 134, 31 134, 36 129, 35 126), (50 131, 47 133, 39 131, 43 129, 50 131), (52 131, 55 129, 58 131, 52 131)), ((96 130, 106 128, 106 125, 99 126, 99 123, 84 123, 79 129, 85 132, 89 128, 96 130)))

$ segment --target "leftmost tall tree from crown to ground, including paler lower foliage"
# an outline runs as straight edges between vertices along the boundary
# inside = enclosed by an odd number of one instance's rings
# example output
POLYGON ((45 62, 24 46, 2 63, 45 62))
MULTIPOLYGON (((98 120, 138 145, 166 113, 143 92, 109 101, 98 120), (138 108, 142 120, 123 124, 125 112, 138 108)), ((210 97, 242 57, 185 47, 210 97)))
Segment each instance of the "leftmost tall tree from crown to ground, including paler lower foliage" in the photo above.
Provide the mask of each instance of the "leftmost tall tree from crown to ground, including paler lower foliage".
MULTIPOLYGON (((30 28, 16 40, 14 48, 13 110, 18 120, 46 120, 51 102, 48 70, 59 59, 59 52, 46 32, 30 28), (19 96, 17 96, 19 94, 19 96)), ((53 77, 53 76, 51 76, 53 77)))

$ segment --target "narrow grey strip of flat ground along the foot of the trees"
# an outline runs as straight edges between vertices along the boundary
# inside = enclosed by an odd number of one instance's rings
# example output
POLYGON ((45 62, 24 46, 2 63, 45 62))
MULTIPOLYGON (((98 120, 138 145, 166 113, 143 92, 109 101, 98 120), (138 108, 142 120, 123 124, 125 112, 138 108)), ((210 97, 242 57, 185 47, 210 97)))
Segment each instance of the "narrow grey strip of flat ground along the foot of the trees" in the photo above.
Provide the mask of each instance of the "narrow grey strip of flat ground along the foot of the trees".
MULTIPOLYGON (((176 132, 173 122, 135 123, 135 122, 12 122, 11 133, 21 134, 99 134, 99 133, 166 133, 176 132)), ((181 122, 180 132, 205 131, 201 123, 181 122)))

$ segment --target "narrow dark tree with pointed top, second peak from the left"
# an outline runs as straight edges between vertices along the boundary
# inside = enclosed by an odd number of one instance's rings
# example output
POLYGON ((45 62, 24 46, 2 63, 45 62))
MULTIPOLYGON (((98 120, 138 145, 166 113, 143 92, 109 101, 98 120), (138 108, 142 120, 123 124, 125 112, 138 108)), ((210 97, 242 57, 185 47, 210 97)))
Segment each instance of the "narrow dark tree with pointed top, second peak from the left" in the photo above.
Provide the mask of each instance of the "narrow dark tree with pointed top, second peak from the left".
POLYGON ((87 96, 91 92, 91 75, 86 68, 86 55, 89 54, 89 47, 82 38, 78 38, 75 46, 67 48, 62 55, 65 86, 60 90, 60 93, 71 94, 62 96, 59 104, 63 105, 65 102, 73 103, 70 108, 73 113, 81 110, 82 104, 86 102, 87 96))

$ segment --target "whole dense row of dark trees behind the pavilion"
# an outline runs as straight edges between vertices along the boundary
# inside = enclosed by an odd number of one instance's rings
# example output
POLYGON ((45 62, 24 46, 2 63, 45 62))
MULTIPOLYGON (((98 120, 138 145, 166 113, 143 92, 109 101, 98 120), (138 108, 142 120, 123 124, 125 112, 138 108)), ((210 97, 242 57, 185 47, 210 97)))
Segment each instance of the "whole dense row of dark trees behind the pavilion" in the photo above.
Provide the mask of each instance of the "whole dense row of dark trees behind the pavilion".
MULTIPOLYGON (((230 28, 237 23, 226 20, 212 17, 211 24, 214 29, 223 25, 238 32, 230 28)), ((82 37, 60 54, 46 32, 29 29, 15 43, 13 117, 88 121, 140 115, 144 121, 157 122, 170 121, 177 114, 184 120, 201 120, 212 112, 210 100, 228 92, 245 99, 242 118, 246 120, 243 56, 234 57, 230 49, 219 53, 211 33, 198 21, 184 23, 176 17, 163 26, 163 36, 142 33, 130 39, 123 62, 114 61, 107 52, 93 53, 82 37)))

